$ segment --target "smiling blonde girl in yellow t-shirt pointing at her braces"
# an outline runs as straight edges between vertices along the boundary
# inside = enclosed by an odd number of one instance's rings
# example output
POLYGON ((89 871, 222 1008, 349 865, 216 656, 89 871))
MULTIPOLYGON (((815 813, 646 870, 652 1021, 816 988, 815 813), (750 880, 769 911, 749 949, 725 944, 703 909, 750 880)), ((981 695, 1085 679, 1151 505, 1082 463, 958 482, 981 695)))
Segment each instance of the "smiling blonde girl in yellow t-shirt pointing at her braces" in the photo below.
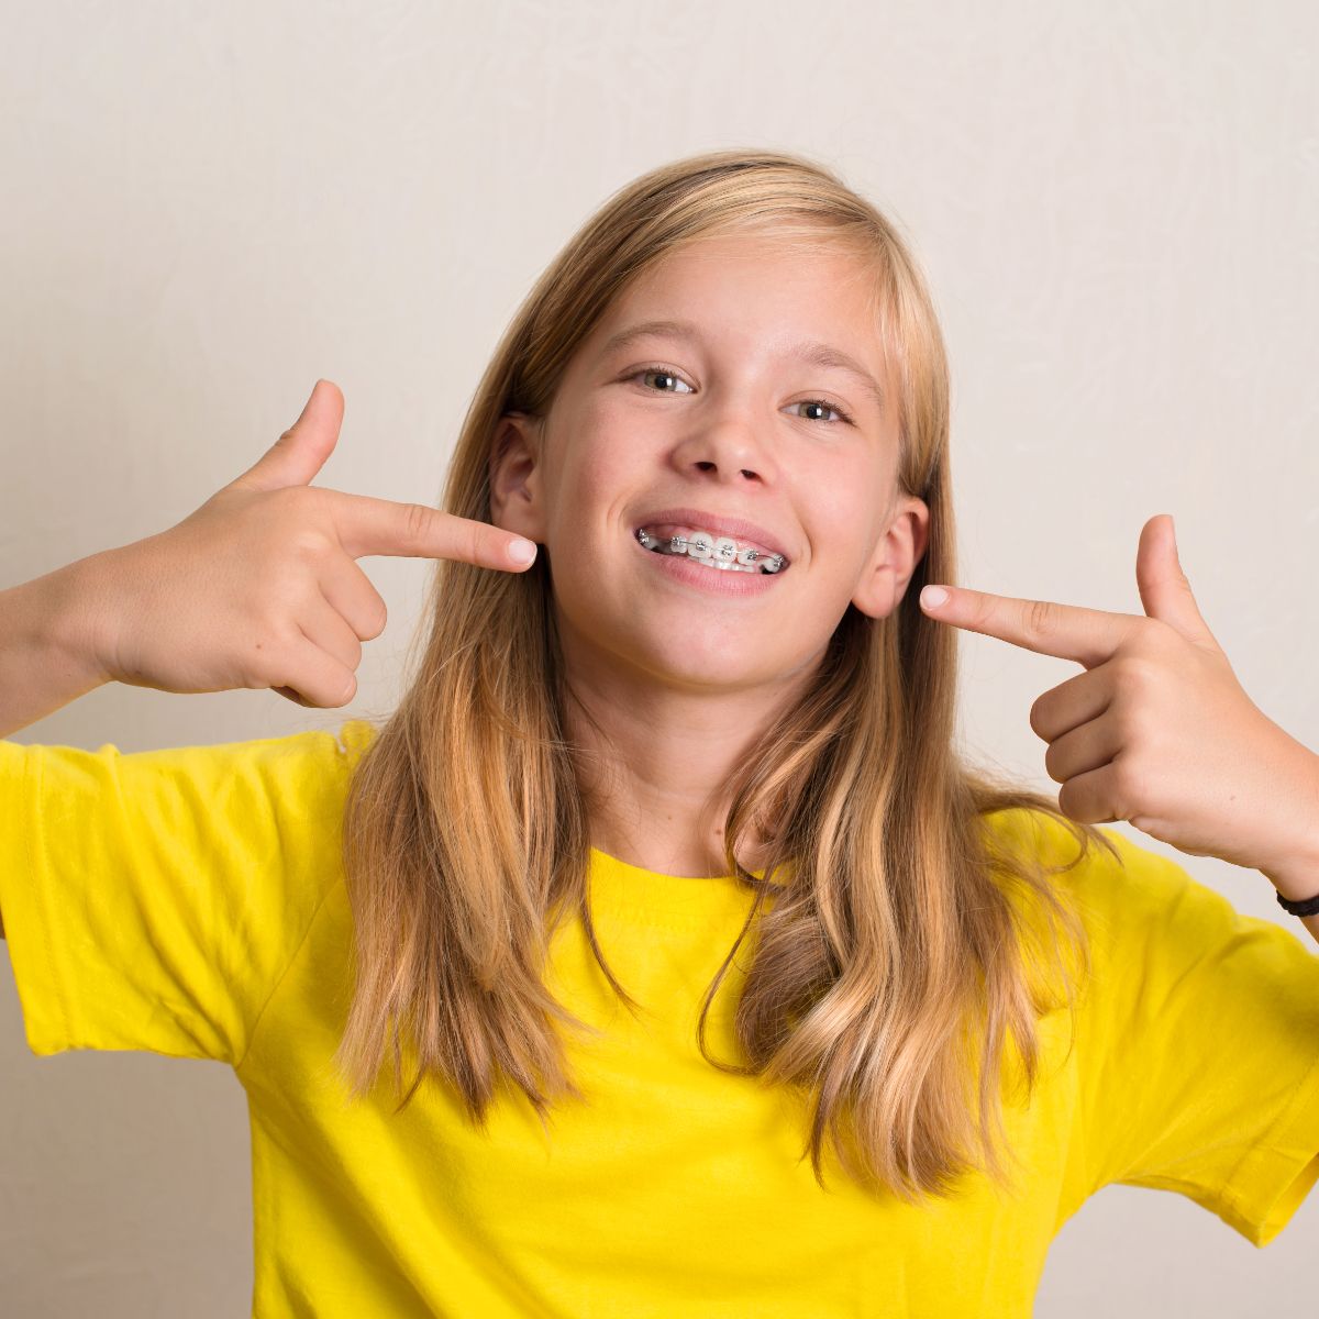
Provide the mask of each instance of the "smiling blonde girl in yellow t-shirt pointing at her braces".
POLYGON ((0 743, 28 1042, 235 1068, 253 1314, 1025 1316, 1111 1182, 1277 1236, 1319 958, 1097 824, 1154 818, 1104 777, 1158 725, 1133 650, 1297 799, 1314 757, 1191 667, 1149 526, 1146 619, 922 611, 948 377, 872 204, 769 152, 624 187, 499 344, 447 513, 311 487, 340 418, 318 383, 185 522, 0 595, 9 731, 109 679, 328 708, 384 628, 356 559, 438 559, 379 725, 0 743), (959 758, 958 627, 1086 665, 1033 712, 1071 813, 959 758))

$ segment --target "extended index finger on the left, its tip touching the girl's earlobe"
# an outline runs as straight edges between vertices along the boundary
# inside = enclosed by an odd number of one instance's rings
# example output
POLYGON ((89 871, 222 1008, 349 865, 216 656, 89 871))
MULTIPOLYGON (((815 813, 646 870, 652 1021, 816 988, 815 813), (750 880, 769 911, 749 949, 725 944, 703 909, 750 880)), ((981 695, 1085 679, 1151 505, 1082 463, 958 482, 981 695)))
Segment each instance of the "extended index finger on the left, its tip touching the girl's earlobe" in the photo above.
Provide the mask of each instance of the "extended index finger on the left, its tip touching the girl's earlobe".
POLYGON ((331 509, 339 543, 352 558, 367 554, 459 559, 483 568, 521 572, 536 561, 536 542, 489 522, 445 513, 429 504, 409 504, 371 495, 322 491, 331 509))

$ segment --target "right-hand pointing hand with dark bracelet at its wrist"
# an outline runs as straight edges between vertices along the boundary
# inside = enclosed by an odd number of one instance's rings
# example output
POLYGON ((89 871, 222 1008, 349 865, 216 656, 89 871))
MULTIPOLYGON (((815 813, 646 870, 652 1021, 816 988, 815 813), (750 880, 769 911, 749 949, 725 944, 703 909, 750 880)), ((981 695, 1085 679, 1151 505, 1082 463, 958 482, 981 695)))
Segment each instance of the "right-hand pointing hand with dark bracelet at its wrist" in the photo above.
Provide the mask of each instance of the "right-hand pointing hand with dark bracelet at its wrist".
POLYGON ((1191 856, 1294 865, 1319 834, 1319 757, 1241 689, 1200 616, 1169 514, 1141 530, 1136 582, 1144 615, 960 587, 926 612, 1084 666, 1030 708, 1063 814, 1128 820, 1191 856))

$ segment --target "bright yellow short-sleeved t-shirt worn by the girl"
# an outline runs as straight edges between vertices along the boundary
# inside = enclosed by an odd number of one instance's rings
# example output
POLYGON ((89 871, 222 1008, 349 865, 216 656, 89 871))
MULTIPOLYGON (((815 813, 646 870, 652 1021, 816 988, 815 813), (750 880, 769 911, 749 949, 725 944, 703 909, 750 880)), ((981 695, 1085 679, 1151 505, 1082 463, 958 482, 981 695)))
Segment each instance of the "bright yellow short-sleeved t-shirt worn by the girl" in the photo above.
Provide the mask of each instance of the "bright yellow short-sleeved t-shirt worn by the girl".
MULTIPOLYGON (((749 896, 601 852, 599 936, 649 1014, 616 1002, 576 921, 561 927, 553 988, 607 1031, 571 1037, 588 1103, 555 1109, 549 1137, 521 1095, 488 1134, 435 1084, 397 1116, 389 1084, 347 1107, 342 805, 373 732, 132 754, 0 741, 0 918, 28 1043, 235 1068, 262 1319, 1013 1319, 1062 1223, 1111 1182, 1179 1191, 1262 1246, 1319 1178, 1319 955, 1116 831, 1125 868, 1092 849, 1054 881, 1097 966, 1076 1047, 1063 1062, 1066 1010, 1043 1018, 1046 1080, 1005 1112, 1017 1198, 975 1178, 914 1208, 857 1188, 832 1151, 820 1190, 802 1111, 696 1046, 749 896)), ((1075 852, 1047 819, 1037 845, 1075 852)), ((719 1058, 736 1057, 736 983, 711 1016, 719 1058)))

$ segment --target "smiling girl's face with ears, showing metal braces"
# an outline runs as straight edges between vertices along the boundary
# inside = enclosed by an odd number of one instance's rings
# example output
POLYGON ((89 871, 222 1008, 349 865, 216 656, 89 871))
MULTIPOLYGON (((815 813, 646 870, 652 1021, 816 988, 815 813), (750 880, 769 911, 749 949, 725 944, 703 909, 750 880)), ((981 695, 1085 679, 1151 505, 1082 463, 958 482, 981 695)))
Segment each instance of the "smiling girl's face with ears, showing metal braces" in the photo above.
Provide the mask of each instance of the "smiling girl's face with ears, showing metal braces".
POLYGON ((782 686, 820 660, 848 603, 890 612, 929 524, 897 496, 892 400, 856 259, 741 235, 646 272, 578 347, 542 422, 509 414, 495 448, 495 521, 543 546, 570 666, 782 686), (645 549, 641 528, 728 533, 786 563, 720 571, 645 549))

